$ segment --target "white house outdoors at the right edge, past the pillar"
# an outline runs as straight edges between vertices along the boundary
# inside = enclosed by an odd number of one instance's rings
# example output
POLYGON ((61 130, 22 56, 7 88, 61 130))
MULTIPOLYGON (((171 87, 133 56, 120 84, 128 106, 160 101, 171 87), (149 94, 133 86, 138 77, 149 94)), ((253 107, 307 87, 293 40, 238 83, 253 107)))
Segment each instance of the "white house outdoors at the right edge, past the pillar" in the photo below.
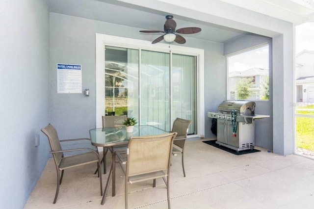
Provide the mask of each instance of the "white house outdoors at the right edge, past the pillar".
POLYGON ((295 60, 296 102, 314 102, 314 52, 303 50, 295 60))

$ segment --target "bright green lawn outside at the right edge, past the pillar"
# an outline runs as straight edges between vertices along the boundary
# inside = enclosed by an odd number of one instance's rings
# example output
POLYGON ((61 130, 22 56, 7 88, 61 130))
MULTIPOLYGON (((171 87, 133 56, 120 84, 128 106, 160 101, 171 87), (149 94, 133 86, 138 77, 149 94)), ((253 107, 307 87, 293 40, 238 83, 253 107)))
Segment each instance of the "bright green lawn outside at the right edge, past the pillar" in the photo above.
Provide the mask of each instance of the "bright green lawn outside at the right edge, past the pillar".
MULTIPOLYGON (((314 115, 314 110, 310 109, 314 109, 314 105, 298 107, 297 114, 314 115)), ((314 151, 314 118, 296 117, 296 146, 314 151)))

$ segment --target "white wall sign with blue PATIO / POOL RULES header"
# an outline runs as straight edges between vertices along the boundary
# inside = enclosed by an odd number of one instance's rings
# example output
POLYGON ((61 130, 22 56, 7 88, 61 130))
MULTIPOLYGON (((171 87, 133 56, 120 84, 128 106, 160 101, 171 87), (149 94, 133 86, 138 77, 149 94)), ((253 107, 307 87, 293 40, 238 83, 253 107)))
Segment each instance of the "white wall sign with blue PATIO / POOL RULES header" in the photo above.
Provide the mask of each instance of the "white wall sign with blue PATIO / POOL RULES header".
POLYGON ((57 93, 82 93, 82 66, 57 64, 57 93))

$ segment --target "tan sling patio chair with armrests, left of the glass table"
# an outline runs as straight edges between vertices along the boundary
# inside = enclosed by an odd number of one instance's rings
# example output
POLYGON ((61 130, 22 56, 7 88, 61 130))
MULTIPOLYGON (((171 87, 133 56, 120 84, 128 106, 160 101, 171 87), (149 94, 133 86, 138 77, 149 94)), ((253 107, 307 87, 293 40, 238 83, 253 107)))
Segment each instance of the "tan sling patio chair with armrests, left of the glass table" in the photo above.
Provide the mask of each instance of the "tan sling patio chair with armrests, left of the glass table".
MULTIPOLYGON (((55 163, 55 168, 57 171, 57 189, 56 189, 55 197, 53 200, 53 204, 55 204, 57 201, 59 187, 62 182, 63 173, 65 169, 73 168, 73 167, 77 167, 81 165, 86 165, 89 163, 97 163, 98 170, 100 171, 101 159, 98 152, 96 152, 93 149, 79 148, 79 149, 62 150, 61 148, 60 142, 89 140, 88 138, 59 140, 57 131, 51 124, 41 129, 41 131, 45 133, 45 135, 48 137, 48 141, 51 147, 51 152, 49 153, 52 154, 52 157, 55 163), (72 156, 66 156, 66 157, 63 156, 64 152, 76 152, 76 151, 88 151, 88 152, 77 154, 77 155, 72 155, 72 156), (61 172, 61 176, 60 176, 60 172, 61 172)), ((100 172, 98 172, 98 177, 100 178, 100 192, 102 196, 103 195, 103 183, 102 183, 102 175, 100 172)))

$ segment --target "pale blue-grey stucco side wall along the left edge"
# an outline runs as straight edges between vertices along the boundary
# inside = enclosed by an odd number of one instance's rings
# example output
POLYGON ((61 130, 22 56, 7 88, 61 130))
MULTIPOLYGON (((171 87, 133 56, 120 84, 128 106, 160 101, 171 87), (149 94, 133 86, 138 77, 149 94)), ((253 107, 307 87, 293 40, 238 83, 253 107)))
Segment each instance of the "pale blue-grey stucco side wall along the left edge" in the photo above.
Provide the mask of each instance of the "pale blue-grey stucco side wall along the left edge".
POLYGON ((49 157, 47 2, 1 0, 0 20, 0 208, 21 209, 49 157))

